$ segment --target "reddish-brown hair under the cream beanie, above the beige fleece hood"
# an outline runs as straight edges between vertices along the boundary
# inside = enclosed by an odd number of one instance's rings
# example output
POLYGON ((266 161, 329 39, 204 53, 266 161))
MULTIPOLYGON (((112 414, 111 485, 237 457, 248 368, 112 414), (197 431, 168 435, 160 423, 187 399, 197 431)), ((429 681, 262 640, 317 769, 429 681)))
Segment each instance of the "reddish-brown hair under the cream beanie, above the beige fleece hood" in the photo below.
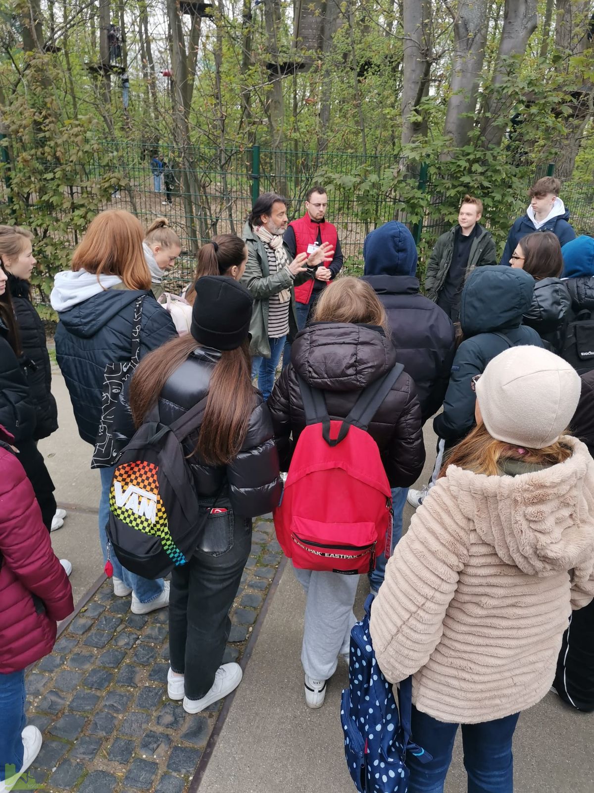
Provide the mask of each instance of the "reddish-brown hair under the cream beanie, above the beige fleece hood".
MULTIPOLYGON (((569 435, 569 431, 565 431, 563 434, 569 435)), ((501 477, 504 473, 506 460, 521 461, 548 468, 550 465, 557 465, 559 462, 568 460, 572 454, 569 446, 561 441, 545 446, 543 449, 528 449, 523 446, 520 451, 519 446, 493 438, 489 435, 485 424, 480 423, 466 435, 463 441, 459 442, 458 446, 451 450, 451 454, 440 471, 439 478, 446 475, 450 465, 457 465, 459 468, 473 473, 484 473, 487 477, 501 477)))

